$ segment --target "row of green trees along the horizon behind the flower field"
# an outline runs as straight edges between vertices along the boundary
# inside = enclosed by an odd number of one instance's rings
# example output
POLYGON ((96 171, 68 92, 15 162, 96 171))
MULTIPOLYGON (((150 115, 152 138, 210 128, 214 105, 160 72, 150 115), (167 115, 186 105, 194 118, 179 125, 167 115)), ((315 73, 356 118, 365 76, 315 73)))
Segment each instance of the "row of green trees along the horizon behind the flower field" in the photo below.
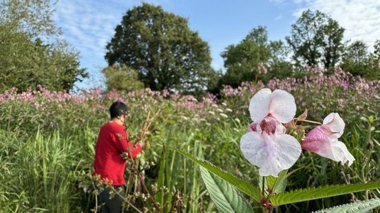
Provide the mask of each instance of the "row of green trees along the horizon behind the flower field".
MULTIPOLYGON (((0 91, 36 85, 67 90, 88 74, 78 52, 54 37, 54 5, 48 0, 0 0, 0 91), (34 5, 30 7, 30 5, 34 5)), ((306 67, 342 67, 355 76, 380 79, 380 40, 370 52, 363 41, 344 41, 344 28, 327 14, 306 10, 284 41, 269 41, 266 27, 253 28, 221 53, 225 72, 211 67, 209 45, 187 19, 158 5, 127 10, 107 43, 102 69, 108 90, 149 87, 182 93, 218 93, 223 85, 308 75, 306 67)))

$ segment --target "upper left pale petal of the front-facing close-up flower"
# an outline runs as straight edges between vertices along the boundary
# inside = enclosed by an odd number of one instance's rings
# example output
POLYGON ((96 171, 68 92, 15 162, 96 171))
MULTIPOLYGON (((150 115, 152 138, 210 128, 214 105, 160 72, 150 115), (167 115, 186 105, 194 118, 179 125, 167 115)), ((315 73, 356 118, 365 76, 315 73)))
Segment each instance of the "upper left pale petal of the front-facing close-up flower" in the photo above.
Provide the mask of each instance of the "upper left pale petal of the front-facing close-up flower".
POLYGON ((271 104, 271 89, 260 89, 249 102, 249 113, 253 122, 260 122, 269 113, 269 105, 271 104))

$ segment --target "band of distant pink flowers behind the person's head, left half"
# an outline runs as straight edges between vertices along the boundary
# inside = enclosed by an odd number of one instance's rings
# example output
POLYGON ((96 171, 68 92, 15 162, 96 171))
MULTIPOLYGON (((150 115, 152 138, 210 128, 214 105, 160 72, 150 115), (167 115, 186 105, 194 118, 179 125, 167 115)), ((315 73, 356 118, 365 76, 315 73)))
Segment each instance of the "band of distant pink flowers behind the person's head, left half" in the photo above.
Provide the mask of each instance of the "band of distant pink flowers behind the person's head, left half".
MULTIPOLYGON (((21 93, 16 88, 0 93, 0 111, 6 112, 0 115, 0 128, 17 129, 25 133, 34 132, 37 128, 49 133, 59 128, 70 133, 83 126, 100 126, 109 117, 107 109, 110 104, 116 100, 128 105, 129 111, 133 112, 130 113, 130 121, 136 124, 145 120, 149 109, 154 110, 161 104, 170 108, 165 116, 168 120, 183 115, 208 124, 225 117, 219 112, 209 113, 215 109, 212 105, 218 103, 211 94, 197 100, 193 96, 181 96, 178 92, 152 91, 149 88, 129 93, 105 93, 99 88, 67 93, 49 91, 40 86, 38 90, 28 89, 21 93)), ((224 110, 224 113, 227 112, 224 110)))

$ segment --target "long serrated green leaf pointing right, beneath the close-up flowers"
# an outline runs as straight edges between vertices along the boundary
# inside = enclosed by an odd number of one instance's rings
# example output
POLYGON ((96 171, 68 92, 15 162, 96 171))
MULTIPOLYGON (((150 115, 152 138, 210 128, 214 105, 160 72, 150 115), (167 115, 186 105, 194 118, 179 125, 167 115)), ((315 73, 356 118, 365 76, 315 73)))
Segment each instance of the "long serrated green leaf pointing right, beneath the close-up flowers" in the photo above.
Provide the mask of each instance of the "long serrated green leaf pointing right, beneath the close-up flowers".
POLYGON ((284 205, 288 203, 297 203, 302 201, 310 201, 314 199, 322 199, 325 197, 334 197, 341 194, 360 192, 364 190, 373 190, 380 188, 380 182, 358 183, 350 185, 322 186, 319 188, 306 188, 295 190, 292 192, 284 192, 271 197, 272 205, 284 205))

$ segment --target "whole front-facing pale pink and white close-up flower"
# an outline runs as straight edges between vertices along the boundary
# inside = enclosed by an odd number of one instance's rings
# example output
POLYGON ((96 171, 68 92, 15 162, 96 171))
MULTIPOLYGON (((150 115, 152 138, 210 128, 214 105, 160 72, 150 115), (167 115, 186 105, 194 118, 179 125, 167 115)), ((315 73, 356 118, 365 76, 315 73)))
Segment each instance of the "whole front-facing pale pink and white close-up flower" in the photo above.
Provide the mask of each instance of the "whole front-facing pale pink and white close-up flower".
POLYGON ((273 93, 261 89, 251 98, 249 112, 253 123, 240 139, 240 149, 251 164, 260 168, 261 176, 277 177, 301 155, 301 145, 295 137, 284 134, 282 125, 293 119, 295 111, 293 96, 281 89, 273 93))

